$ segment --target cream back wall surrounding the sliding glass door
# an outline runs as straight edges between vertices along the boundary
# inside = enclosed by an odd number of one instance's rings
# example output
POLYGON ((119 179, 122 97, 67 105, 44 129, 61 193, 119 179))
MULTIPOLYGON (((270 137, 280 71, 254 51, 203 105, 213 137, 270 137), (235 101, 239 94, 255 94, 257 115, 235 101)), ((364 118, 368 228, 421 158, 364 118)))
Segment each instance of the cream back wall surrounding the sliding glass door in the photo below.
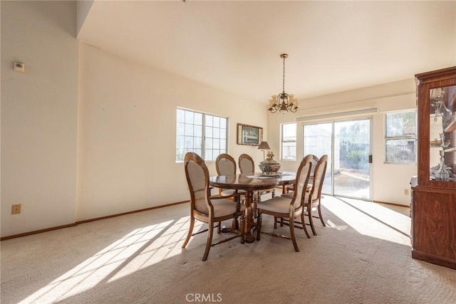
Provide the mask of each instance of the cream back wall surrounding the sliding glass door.
MULTIPOLYGON (((416 174, 416 164, 385 164, 384 152, 384 112, 416 108, 415 81, 413 78, 371 88, 352 90, 331 95, 300 100, 301 108, 296 113, 269 114, 268 130, 271 149, 279 152, 280 124, 296 122, 297 117, 346 112, 366 108, 378 108, 375 114, 356 115, 356 117, 372 117, 372 154, 373 154, 373 200, 393 204, 410 204, 410 195, 404 195, 403 189, 410 189, 410 177, 416 174)), ((351 116, 355 117, 355 116, 351 116)), ((335 120, 348 117, 336 117, 335 120)), ((331 118, 314 122, 331 121, 331 118)), ((312 121, 306 121, 309 123, 312 121)), ((297 155, 303 157, 302 125, 298 122, 297 155)), ((279 153, 276 153, 279 155, 279 153)), ((281 162, 282 169, 293 170, 298 162, 281 162)))

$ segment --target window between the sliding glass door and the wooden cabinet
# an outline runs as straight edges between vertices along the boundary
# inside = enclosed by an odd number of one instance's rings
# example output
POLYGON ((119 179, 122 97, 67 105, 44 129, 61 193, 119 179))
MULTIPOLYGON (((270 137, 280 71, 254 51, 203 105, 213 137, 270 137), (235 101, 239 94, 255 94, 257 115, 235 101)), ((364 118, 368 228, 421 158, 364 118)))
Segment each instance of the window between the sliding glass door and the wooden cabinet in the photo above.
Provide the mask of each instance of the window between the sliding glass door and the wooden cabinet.
POLYGON ((416 162, 416 111, 385 113, 385 162, 416 162))

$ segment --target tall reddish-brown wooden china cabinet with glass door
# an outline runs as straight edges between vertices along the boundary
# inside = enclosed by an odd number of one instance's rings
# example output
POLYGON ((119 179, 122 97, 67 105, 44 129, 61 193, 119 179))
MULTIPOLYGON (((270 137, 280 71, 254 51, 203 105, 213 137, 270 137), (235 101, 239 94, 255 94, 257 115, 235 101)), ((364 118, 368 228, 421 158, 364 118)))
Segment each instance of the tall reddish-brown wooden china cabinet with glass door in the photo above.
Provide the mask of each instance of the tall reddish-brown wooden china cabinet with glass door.
POLYGON ((415 75, 418 185, 412 257, 456 269, 456 67, 415 75))

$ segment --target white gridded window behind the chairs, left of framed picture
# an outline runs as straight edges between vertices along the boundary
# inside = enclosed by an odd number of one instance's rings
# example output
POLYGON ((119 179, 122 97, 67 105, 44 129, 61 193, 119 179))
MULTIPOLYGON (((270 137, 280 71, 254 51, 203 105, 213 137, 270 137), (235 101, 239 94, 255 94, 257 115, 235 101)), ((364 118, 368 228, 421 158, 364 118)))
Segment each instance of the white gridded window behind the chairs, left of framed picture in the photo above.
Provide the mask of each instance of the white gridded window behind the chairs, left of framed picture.
POLYGON ((195 152, 204 160, 215 160, 227 152, 225 117, 177 109, 176 162, 182 162, 187 152, 195 152))

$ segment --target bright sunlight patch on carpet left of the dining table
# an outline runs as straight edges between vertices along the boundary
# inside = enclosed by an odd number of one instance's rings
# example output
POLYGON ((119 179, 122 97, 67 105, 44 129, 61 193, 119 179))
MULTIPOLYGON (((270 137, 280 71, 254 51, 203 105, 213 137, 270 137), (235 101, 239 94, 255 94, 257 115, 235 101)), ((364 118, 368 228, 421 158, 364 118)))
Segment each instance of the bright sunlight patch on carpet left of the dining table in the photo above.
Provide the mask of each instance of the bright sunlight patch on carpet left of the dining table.
MULTIPOLYGON (((109 283, 182 252, 189 216, 135 229, 29 295, 21 303, 51 303, 109 283)), ((195 223, 195 231, 202 224, 195 223)))

